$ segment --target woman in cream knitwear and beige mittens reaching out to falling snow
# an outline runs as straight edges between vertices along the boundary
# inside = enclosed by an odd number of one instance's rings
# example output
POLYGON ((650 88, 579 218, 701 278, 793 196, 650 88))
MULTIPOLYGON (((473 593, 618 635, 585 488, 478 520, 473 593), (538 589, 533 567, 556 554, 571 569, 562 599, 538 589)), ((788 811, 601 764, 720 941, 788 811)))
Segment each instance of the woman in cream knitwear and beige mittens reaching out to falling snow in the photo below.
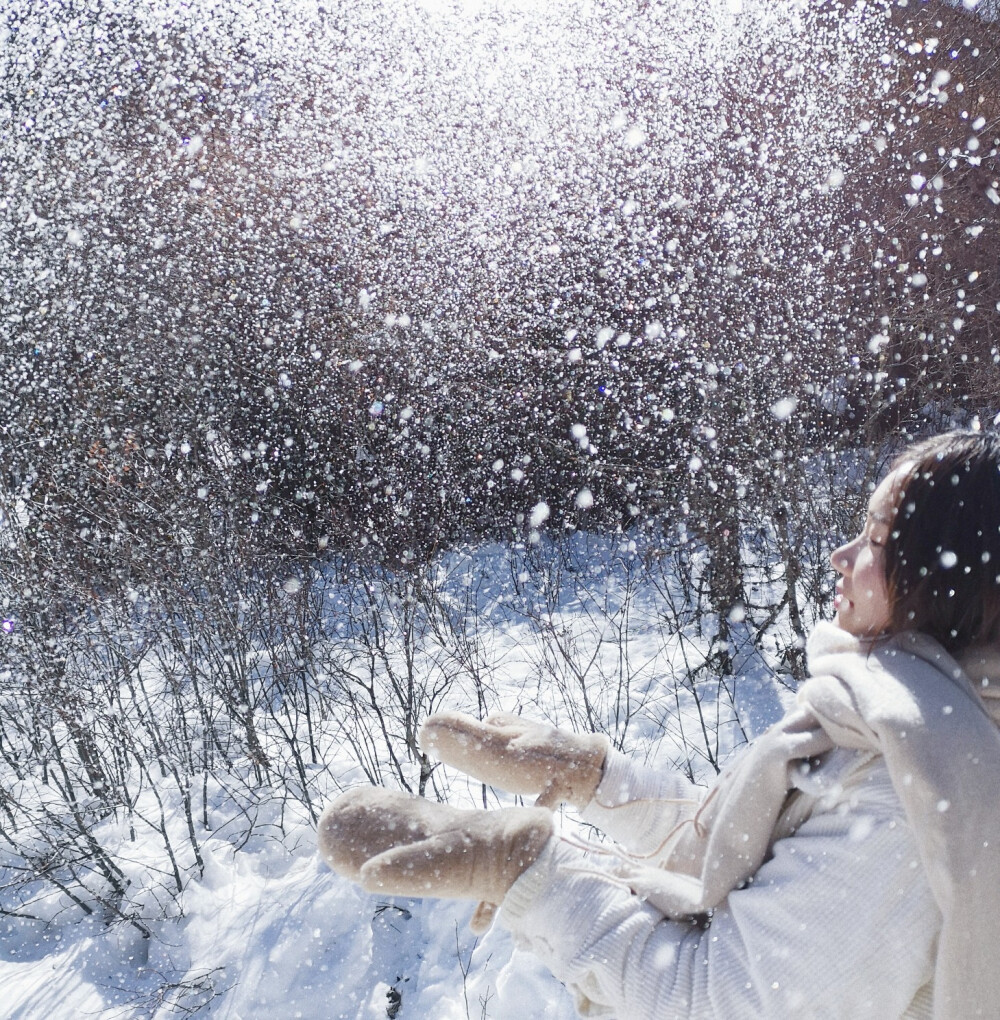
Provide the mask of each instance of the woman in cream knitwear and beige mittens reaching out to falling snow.
POLYGON ((585 1016, 1000 1015, 1000 440, 908 450, 833 554, 795 709, 707 794, 598 736, 431 717, 424 748, 542 807, 352 790, 319 847, 365 888, 485 901, 585 1016), (607 855, 604 855, 607 856, 607 855))

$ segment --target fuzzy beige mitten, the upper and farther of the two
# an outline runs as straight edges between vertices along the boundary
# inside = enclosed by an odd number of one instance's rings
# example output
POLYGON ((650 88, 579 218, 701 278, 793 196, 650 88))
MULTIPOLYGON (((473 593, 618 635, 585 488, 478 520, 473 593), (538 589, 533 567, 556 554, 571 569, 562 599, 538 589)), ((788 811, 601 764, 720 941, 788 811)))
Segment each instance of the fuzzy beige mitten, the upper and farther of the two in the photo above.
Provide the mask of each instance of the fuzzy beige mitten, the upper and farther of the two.
POLYGON ((610 742, 599 733, 573 733, 517 715, 483 722, 460 712, 429 716, 420 747, 491 786, 537 794, 538 807, 566 802, 583 809, 601 781, 610 742))

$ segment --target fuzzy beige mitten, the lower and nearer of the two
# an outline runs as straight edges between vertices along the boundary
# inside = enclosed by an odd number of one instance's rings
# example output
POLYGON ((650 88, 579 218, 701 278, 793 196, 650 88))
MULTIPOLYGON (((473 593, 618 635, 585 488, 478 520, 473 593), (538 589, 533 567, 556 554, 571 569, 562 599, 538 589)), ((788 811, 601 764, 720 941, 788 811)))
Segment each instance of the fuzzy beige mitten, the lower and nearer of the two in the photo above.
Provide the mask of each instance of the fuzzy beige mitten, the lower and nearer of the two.
MULTIPOLYGON (((503 900, 551 836, 541 808, 461 811, 380 786, 343 794, 317 832, 327 863, 369 892, 488 904, 503 900)), ((477 912, 485 927, 491 916, 489 907, 477 912)))

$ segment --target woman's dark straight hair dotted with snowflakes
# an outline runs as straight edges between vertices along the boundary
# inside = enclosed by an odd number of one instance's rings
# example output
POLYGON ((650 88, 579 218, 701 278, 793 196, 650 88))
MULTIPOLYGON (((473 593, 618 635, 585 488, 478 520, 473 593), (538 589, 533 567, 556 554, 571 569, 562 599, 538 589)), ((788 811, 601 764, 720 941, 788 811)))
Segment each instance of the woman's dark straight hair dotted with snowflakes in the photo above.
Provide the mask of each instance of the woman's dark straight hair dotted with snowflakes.
POLYGON ((904 450, 897 469, 889 629, 948 651, 1000 641, 1000 437, 945 432, 904 450))

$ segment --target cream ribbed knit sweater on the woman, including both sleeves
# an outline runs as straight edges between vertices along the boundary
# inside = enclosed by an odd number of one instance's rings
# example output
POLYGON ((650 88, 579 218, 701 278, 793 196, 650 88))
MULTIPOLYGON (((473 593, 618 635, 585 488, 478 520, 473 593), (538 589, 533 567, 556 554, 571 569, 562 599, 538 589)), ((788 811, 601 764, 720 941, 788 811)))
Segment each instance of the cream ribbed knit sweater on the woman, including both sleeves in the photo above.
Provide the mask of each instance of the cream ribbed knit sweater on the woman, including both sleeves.
MULTIPOLYGON (((830 630, 818 644, 810 643, 811 661, 832 661, 833 648, 847 655, 846 672, 869 668, 870 646, 845 653, 842 636, 830 630)), ((988 685, 980 673, 978 682, 988 685)), ((814 687, 822 703, 829 692, 814 687)), ((837 725, 830 725, 835 733, 837 725)), ((713 903, 710 922, 669 919, 650 902, 655 897, 635 895, 628 870, 555 839, 510 889, 503 922, 574 992, 584 1016, 932 1016, 942 907, 921 859, 927 834, 918 839, 914 830, 923 823, 907 815, 884 754, 852 747, 842 733, 834 743, 840 746, 817 767, 789 770, 792 797, 783 817, 792 805, 794 825, 773 823, 763 862, 747 884, 713 903)), ((986 756, 994 752, 990 747, 986 756)), ((739 778, 740 766, 734 771, 739 778)), ((739 782, 736 788, 739 799, 739 782)), ((612 754, 584 817, 630 853, 672 867, 679 827, 691 824, 703 795, 681 776, 612 754)), ((709 871, 712 865, 709 858, 709 871)), ((941 884, 936 876, 935 887, 941 884)), ((938 1013, 947 1015, 940 1004, 938 1013)))

